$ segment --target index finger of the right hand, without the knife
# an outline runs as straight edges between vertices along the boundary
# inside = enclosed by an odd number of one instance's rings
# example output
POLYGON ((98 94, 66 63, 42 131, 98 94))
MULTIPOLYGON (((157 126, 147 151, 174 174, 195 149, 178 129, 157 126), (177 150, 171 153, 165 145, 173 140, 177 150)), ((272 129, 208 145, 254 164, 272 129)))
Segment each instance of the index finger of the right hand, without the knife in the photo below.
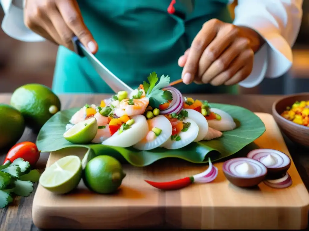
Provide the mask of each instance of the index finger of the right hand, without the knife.
POLYGON ((212 19, 205 22, 202 29, 193 39, 190 47, 190 52, 188 54, 188 59, 184 65, 181 78, 185 84, 189 84, 193 81, 197 69, 199 60, 205 48, 210 44, 210 42, 215 38, 217 34, 218 27, 221 25, 221 21, 218 19, 212 19))

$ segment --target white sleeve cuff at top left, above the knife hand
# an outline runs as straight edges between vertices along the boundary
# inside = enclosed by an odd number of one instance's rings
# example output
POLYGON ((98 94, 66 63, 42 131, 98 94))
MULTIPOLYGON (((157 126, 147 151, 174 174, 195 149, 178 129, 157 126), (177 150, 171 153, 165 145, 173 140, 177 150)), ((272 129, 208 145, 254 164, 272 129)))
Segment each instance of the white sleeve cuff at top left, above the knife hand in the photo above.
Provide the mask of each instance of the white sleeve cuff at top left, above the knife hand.
MULTIPOLYGON (((28 0, 32 1, 32 0, 28 0)), ((28 29, 23 22, 24 0, 0 0, 4 11, 2 20, 2 30, 10 37, 23 42, 41 42, 45 39, 28 29)))

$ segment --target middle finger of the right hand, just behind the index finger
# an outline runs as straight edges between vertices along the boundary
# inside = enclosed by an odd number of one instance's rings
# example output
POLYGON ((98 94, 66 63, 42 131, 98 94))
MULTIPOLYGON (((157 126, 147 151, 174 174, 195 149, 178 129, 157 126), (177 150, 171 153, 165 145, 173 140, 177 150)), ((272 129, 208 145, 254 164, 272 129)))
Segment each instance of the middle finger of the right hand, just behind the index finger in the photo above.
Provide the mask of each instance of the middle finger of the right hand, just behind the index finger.
MULTIPOLYGON (((238 35, 238 29, 232 24, 222 26, 216 38, 206 47, 199 61, 198 77, 203 83, 209 83, 216 75, 211 75, 211 71, 206 71, 219 58, 219 56, 234 42, 238 35), (202 77, 202 78, 201 78, 202 77)), ((239 55, 239 54, 237 54, 239 55)), ((221 68, 222 63, 217 62, 221 68)))

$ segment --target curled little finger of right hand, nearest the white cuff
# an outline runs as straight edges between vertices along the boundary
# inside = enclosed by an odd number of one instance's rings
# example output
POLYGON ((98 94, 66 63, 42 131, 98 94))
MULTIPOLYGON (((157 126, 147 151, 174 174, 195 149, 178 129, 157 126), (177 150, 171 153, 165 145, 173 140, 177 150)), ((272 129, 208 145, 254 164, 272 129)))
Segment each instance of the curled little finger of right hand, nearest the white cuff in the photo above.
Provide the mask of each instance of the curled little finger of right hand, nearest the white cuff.
POLYGON ((254 52, 252 49, 243 51, 236 59, 234 59, 230 67, 216 76, 210 84, 218 85, 233 85, 247 78, 253 67, 254 52))

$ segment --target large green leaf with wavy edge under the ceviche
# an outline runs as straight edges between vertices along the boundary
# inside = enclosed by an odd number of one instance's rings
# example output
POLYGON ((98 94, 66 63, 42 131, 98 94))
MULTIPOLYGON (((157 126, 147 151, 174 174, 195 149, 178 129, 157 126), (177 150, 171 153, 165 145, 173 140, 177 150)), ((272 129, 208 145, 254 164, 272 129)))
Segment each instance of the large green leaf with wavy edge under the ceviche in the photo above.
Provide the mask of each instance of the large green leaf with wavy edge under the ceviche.
POLYGON ((211 107, 229 113, 234 118, 237 127, 232 131, 223 132, 223 136, 218 139, 193 142, 176 150, 155 148, 149 151, 139 151, 134 148, 119 148, 102 144, 72 144, 63 138, 63 134, 66 124, 79 108, 59 111, 53 115, 41 128, 36 145, 41 152, 52 152, 68 147, 91 148, 94 156, 110 155, 120 161, 127 161, 134 166, 143 167, 168 157, 180 158, 192 163, 206 163, 208 157, 212 162, 221 160, 235 154, 265 132, 264 123, 252 111, 220 103, 211 103, 211 107))

